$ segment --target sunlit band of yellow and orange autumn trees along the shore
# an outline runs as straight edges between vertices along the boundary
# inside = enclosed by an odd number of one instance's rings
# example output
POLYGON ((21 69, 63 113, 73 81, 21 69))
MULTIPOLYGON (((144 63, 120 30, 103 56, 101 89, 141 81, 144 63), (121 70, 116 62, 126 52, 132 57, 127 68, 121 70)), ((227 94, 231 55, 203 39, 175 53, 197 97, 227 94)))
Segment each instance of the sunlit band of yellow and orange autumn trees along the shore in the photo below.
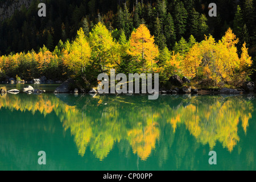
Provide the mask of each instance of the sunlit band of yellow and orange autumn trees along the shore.
POLYGON ((230 28, 218 42, 212 35, 205 36, 200 43, 192 35, 188 42, 181 38, 175 43, 174 51, 167 47, 159 50, 145 24, 134 30, 129 39, 124 31, 120 32, 118 40, 113 34, 117 34, 116 30, 108 30, 99 22, 88 36, 80 28, 73 41, 63 43, 60 40, 53 52, 44 46, 38 53, 32 50, 2 56, 0 78, 16 75, 22 79, 82 77, 92 83, 99 73, 109 73, 110 68, 114 68, 126 74, 159 73, 162 83, 177 74, 200 80, 205 85, 240 86, 251 74, 253 61, 246 43, 239 56, 236 47, 239 39, 230 28))

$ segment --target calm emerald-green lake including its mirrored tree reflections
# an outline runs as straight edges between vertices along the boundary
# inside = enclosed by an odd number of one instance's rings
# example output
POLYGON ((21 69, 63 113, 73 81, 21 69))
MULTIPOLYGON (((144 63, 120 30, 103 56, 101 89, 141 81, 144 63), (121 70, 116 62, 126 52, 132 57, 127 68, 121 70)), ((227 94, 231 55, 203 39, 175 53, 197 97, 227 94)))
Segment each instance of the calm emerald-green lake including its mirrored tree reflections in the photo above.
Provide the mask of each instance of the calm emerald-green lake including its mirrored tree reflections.
POLYGON ((254 95, 6 94, 0 170, 255 170, 255 106, 254 95))

